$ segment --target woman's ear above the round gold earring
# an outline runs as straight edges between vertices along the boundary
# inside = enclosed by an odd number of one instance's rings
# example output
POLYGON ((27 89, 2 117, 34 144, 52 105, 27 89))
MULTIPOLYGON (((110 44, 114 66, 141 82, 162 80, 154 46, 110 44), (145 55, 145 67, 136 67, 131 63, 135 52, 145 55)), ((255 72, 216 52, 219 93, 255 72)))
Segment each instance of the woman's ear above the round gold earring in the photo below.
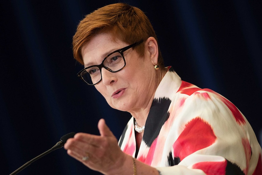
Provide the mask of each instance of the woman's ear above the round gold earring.
POLYGON ((150 55, 150 59, 153 65, 157 65, 158 61, 158 44, 154 37, 149 37, 146 41, 146 50, 150 55))

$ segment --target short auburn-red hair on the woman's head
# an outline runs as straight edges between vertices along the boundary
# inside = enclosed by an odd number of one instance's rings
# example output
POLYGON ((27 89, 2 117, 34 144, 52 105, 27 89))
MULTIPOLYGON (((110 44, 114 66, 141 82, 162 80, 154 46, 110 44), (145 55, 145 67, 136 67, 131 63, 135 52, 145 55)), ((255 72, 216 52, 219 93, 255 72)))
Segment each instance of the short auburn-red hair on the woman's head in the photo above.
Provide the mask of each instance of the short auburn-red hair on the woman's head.
MULTIPOLYGON (((84 65, 81 49, 98 33, 109 32, 113 38, 118 38, 127 44, 133 44, 149 37, 157 40, 155 31, 147 16, 137 7, 126 3, 115 3, 85 16, 80 21, 73 37, 74 58, 84 65)), ((144 46, 139 44, 134 49, 143 56, 144 46)), ((164 67, 164 61, 159 50, 158 65, 164 67)))

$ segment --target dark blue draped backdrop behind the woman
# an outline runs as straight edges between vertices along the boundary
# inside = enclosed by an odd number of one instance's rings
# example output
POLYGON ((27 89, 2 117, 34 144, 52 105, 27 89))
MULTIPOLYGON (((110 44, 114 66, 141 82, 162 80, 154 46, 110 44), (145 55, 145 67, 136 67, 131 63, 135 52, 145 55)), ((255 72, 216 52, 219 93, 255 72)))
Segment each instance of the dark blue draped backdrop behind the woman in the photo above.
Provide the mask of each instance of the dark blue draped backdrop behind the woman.
MULTIPOLYGON (((1 1, 1 174, 50 149, 68 132, 117 138, 129 120, 76 73, 71 39, 84 15, 118 1, 1 1)), ((210 88, 246 116, 261 143, 262 1, 126 0, 146 12, 164 56, 185 81, 210 88)), ((22 174, 98 174, 56 150, 22 174)))

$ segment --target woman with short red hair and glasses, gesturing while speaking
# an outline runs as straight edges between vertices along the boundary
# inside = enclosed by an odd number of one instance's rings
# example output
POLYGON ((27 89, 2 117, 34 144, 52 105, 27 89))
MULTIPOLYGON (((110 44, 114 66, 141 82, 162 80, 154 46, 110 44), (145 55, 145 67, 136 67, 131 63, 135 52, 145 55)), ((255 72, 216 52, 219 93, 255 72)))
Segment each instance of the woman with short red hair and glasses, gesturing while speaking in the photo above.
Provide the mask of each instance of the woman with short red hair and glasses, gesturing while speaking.
POLYGON ((119 141, 78 133, 67 153, 103 174, 260 174, 261 147, 226 98, 165 68, 157 37, 138 8, 123 3, 87 15, 73 38, 78 76, 132 118, 119 141))

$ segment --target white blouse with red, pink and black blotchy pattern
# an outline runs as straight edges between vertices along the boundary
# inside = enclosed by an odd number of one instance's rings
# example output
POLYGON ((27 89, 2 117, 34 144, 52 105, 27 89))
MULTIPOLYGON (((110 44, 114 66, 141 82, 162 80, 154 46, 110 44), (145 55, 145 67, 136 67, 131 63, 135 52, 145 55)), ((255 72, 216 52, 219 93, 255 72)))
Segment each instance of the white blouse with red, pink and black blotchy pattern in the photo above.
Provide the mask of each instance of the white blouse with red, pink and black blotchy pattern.
POLYGON ((168 67, 157 87, 136 150, 134 118, 119 146, 137 160, 169 174, 261 175, 262 150, 243 114, 222 95, 200 89, 168 67))

